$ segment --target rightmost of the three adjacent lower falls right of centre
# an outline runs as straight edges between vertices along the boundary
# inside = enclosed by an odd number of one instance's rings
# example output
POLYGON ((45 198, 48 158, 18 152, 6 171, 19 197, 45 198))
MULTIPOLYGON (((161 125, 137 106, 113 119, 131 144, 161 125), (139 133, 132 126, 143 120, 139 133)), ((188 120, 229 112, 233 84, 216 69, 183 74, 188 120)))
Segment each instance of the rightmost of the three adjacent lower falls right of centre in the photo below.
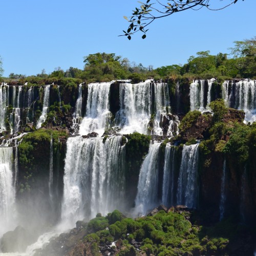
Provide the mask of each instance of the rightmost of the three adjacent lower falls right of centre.
POLYGON ((183 146, 178 178, 177 204, 193 208, 197 206, 198 196, 198 145, 183 146))

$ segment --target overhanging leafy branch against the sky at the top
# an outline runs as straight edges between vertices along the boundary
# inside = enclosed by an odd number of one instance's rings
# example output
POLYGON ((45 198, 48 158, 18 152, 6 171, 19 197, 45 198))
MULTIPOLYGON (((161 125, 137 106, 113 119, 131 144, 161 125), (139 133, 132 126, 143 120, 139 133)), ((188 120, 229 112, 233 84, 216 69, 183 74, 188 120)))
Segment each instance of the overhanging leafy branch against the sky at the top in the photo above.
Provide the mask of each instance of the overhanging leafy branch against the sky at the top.
POLYGON ((131 17, 128 18, 124 16, 130 25, 127 31, 123 30, 124 34, 122 36, 127 36, 127 38, 131 40, 131 35, 141 31, 143 33, 142 39, 144 39, 146 38, 146 32, 148 30, 145 28, 156 19, 188 9, 199 10, 203 7, 209 10, 217 11, 238 2, 238 0, 229 0, 228 3, 226 2, 224 4, 224 2, 227 0, 219 0, 221 2, 219 8, 212 9, 210 2, 216 2, 216 0, 167 0, 167 3, 161 3, 159 0, 156 1, 157 3, 152 3, 151 0, 147 0, 146 3, 139 2, 141 6, 139 8, 135 8, 131 17))

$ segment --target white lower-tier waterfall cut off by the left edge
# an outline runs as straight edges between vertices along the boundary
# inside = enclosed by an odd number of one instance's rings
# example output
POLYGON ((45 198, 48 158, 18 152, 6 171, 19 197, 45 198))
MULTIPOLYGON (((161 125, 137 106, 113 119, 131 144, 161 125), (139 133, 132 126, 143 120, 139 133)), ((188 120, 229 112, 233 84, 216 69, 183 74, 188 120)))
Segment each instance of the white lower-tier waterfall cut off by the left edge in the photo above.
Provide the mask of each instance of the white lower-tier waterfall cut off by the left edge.
POLYGON ((0 238, 14 225, 12 157, 12 147, 0 147, 0 238))

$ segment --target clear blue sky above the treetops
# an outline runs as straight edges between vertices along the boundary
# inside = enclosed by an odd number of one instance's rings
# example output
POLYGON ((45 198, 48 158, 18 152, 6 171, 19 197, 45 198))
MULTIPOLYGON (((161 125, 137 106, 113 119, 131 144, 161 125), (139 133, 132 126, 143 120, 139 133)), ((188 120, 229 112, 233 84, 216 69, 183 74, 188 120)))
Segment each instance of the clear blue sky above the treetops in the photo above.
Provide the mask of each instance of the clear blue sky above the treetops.
POLYGON ((129 25, 123 15, 138 5, 135 0, 2 0, 4 76, 82 69, 83 56, 96 52, 116 53, 145 67, 183 64, 198 51, 226 53, 233 41, 256 35, 256 0, 239 0, 221 11, 184 11, 156 20, 144 40, 118 37, 129 25))

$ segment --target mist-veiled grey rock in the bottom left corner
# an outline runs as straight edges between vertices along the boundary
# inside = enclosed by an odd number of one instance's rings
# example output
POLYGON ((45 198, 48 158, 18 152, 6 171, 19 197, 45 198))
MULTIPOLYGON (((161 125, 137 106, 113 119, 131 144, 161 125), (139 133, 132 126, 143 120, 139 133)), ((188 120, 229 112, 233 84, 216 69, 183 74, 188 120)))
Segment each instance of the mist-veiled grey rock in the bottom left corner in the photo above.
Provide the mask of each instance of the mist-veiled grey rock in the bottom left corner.
POLYGON ((34 243, 36 238, 23 228, 17 226, 13 231, 8 231, 1 239, 0 249, 2 252, 24 252, 28 245, 34 243))

